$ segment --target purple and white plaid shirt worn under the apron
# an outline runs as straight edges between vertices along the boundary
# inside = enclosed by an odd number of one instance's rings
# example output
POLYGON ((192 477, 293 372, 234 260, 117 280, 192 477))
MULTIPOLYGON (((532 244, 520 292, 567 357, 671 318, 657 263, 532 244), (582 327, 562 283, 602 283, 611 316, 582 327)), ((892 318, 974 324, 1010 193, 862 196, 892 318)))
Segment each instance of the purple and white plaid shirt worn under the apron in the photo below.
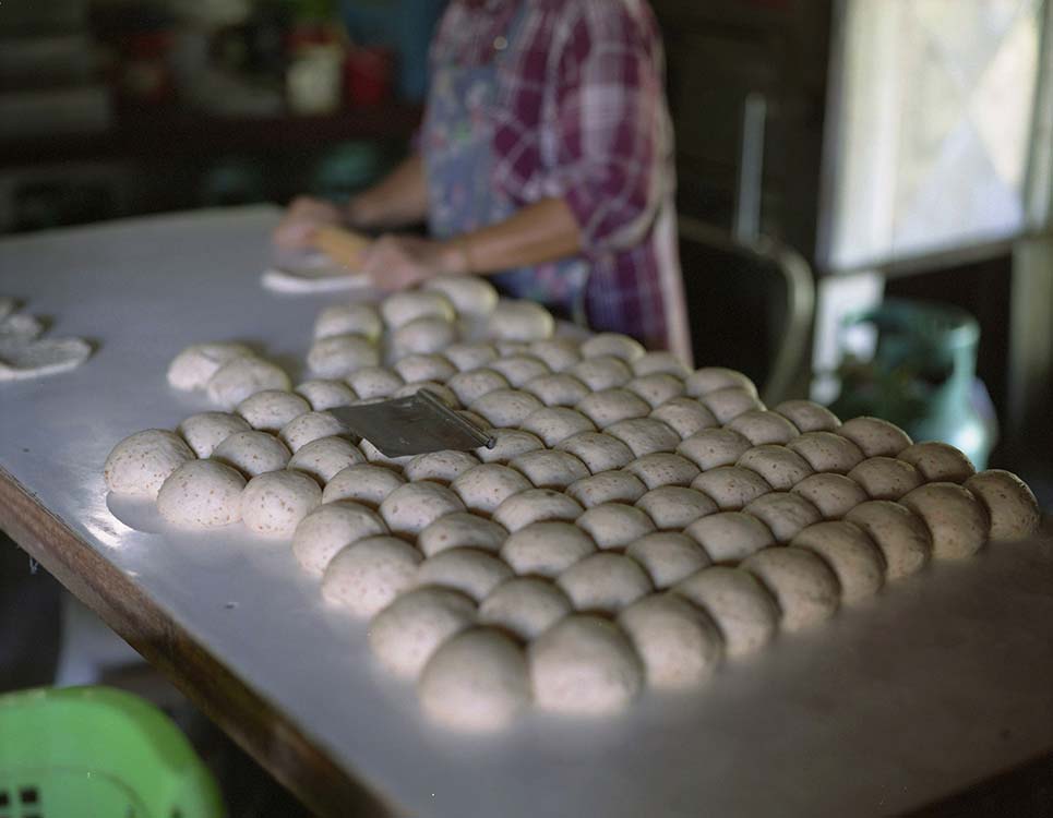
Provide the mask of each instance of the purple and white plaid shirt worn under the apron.
POLYGON ((477 64, 504 50, 495 189, 518 205, 562 199, 591 266, 593 328, 666 346, 659 265, 675 260, 661 246, 675 233, 655 228, 662 208, 671 214, 675 175, 661 38, 646 0, 452 0, 431 59, 477 64))

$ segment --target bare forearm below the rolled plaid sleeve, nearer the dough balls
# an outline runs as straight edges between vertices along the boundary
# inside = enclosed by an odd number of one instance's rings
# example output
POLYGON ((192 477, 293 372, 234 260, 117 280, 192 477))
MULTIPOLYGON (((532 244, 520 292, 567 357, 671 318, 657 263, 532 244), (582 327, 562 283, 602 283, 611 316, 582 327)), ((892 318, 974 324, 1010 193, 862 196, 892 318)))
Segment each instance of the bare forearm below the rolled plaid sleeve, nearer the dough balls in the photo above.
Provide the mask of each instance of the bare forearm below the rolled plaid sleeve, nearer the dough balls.
POLYGON ((575 255, 582 231, 562 199, 542 199, 504 221, 445 242, 448 272, 486 275, 575 255))

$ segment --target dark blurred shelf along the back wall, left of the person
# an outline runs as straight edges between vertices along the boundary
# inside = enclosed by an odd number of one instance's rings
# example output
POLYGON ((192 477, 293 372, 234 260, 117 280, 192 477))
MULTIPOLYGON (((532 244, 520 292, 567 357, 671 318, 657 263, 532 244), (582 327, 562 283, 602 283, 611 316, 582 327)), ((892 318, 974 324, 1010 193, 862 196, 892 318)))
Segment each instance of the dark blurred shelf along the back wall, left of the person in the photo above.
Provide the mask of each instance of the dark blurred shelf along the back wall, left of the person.
POLYGON ((164 109, 120 113, 112 128, 83 134, 0 141, 0 167, 213 157, 320 147, 347 140, 408 141, 420 122, 417 105, 357 108, 324 117, 220 118, 164 109))

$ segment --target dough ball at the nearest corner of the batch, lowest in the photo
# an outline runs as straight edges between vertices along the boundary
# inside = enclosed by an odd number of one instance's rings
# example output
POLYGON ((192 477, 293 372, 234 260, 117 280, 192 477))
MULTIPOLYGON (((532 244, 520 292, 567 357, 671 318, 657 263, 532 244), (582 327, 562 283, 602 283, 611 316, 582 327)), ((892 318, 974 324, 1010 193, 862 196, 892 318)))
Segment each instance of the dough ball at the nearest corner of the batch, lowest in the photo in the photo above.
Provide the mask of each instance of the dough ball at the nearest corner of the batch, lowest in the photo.
POLYGON ((418 694, 424 713, 444 726, 468 733, 501 730, 530 703, 526 657, 504 634, 466 630, 428 660, 418 694))

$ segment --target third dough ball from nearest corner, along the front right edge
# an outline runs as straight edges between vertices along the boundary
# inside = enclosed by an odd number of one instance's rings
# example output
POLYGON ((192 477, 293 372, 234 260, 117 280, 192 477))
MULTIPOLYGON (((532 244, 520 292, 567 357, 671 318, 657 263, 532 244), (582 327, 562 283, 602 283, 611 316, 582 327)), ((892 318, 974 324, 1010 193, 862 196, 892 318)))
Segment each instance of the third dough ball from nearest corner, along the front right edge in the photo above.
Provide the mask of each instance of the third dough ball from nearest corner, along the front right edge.
POLYGON ((683 597, 656 593, 618 615, 657 689, 682 690, 708 678, 723 654, 713 622, 683 597))

